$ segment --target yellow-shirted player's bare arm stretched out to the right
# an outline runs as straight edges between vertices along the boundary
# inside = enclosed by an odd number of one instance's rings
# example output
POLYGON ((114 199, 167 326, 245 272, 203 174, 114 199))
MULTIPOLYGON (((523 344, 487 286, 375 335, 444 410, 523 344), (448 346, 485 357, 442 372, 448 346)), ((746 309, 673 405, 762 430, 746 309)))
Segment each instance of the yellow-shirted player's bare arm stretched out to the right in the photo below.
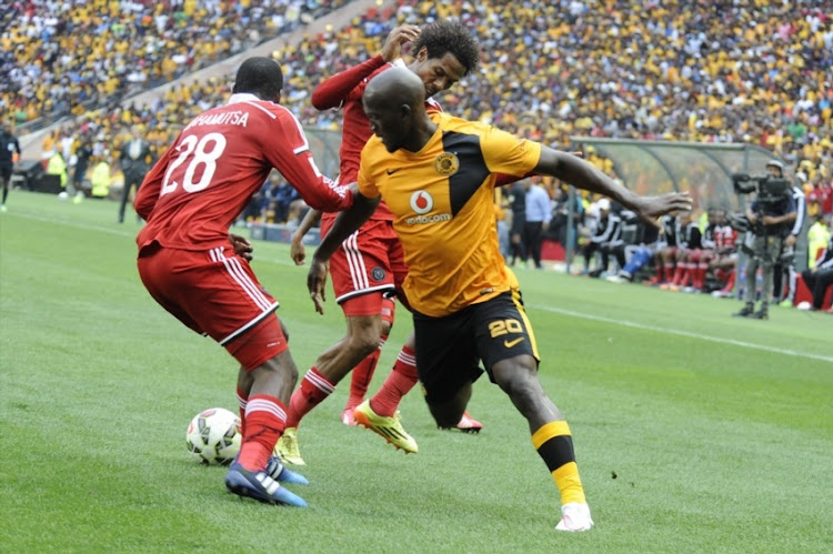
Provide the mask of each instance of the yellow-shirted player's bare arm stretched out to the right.
POLYGON ((633 210, 639 218, 660 228, 659 218, 673 211, 691 210, 688 192, 670 192, 659 197, 640 197, 614 182, 599 169, 568 152, 541 147, 541 158, 533 170, 538 174, 552 175, 573 187, 604 194, 633 210))

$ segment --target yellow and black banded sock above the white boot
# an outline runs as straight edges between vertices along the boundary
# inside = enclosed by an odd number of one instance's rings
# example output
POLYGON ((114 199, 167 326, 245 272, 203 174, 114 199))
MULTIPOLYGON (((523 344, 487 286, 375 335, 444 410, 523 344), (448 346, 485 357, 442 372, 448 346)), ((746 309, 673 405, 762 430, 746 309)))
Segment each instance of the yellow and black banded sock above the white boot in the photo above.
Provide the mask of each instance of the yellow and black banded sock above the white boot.
POLYGON ((579 466, 575 465, 573 437, 565 421, 551 421, 532 433, 532 444, 552 473, 561 492, 561 503, 586 503, 581 485, 579 466))

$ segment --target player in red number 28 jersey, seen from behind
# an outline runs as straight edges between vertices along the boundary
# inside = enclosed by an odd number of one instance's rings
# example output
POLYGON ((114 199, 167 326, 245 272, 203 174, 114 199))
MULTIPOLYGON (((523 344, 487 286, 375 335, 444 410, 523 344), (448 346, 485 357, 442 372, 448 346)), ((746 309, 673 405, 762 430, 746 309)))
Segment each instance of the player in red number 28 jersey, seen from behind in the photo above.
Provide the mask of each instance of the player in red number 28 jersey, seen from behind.
POLYGON ((343 210, 350 190, 323 177, 298 120, 278 102, 280 66, 250 58, 227 105, 194 118, 144 179, 136 211, 139 274, 153 299, 238 362, 242 444, 227 488, 261 502, 305 506, 278 481, 304 484, 272 456, 298 380, 278 302, 258 282, 243 239, 229 226, 273 168, 318 209, 343 210))

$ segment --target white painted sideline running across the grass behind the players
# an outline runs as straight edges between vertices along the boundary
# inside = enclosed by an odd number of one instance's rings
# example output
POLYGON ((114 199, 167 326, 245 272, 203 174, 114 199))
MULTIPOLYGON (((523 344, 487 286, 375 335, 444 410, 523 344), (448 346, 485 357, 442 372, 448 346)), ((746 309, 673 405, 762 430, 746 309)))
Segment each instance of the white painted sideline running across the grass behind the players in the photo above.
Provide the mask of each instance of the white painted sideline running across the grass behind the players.
MULTIPOLYGON (((121 231, 118 229, 112 229, 112 228, 107 228, 107 226, 101 226, 101 225, 89 225, 87 223, 79 223, 77 221, 54 220, 54 219, 43 218, 40 215, 32 215, 28 213, 9 213, 9 215, 17 215, 19 218, 26 218, 26 219, 36 220, 36 221, 46 221, 48 223, 57 223, 61 225, 76 226, 79 229, 88 229, 91 231, 102 231, 106 233, 118 234, 121 236, 136 236, 139 233, 138 229, 136 232, 127 232, 127 231, 121 231)), ((258 263, 265 262, 265 263, 274 263, 278 265, 294 265, 294 263, 289 260, 284 262, 282 260, 273 260, 273 259, 260 259, 260 260, 255 259, 255 261, 258 263)), ((741 346, 744 349, 762 350, 764 352, 773 352, 773 353, 783 354, 786 356, 806 357, 810 360, 820 360, 822 362, 833 363, 833 356, 825 356, 822 354, 811 354, 806 352, 796 352, 794 350, 776 349, 774 346, 767 346, 765 344, 755 344, 751 342, 735 341, 733 339, 724 339, 722 336, 711 336, 706 334, 692 333, 690 331, 680 331, 680 330, 668 329, 668 328, 656 328, 653 325, 645 325, 644 323, 636 323, 634 321, 616 320, 613 318, 605 318, 603 315, 593 315, 589 313, 574 312, 572 310, 564 310, 562 308, 540 306, 540 305, 531 305, 531 304, 528 304, 528 308, 533 309, 533 310, 541 310, 543 312, 560 313, 562 315, 581 318, 584 320, 601 321, 603 323, 613 323, 613 324, 623 325, 626 328, 642 329, 644 331, 654 331, 656 333, 673 334, 678 336, 685 336, 688 339, 696 339, 700 341, 710 341, 710 342, 717 342, 722 344, 732 344, 734 346, 741 346)))

